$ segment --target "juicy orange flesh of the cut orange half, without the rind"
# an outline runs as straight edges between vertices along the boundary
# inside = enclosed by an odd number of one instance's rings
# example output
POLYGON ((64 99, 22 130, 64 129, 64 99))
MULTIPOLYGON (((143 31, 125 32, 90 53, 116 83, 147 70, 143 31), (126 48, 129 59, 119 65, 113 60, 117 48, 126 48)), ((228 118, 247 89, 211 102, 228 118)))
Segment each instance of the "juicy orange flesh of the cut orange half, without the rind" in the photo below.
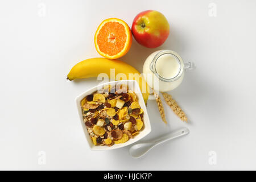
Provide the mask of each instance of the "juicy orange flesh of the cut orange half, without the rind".
POLYGON ((108 22, 101 27, 97 35, 97 44, 100 51, 109 55, 117 55, 125 47, 125 27, 118 22, 108 22))

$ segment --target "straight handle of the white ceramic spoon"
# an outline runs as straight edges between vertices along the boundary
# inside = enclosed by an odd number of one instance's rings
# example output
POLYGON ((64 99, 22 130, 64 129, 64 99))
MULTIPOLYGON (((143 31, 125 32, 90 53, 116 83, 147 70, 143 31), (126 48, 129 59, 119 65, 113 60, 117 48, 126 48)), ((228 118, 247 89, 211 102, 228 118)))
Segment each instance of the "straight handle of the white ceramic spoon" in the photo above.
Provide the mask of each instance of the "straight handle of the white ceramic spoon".
POLYGON ((187 135, 188 133, 189 133, 189 130, 184 127, 182 129, 173 131, 170 134, 159 137, 159 138, 153 140, 152 143, 155 143, 155 146, 156 146, 156 145, 158 145, 160 143, 163 143, 163 142, 166 142, 168 140, 171 140, 171 139, 174 139, 174 138, 177 138, 177 137, 181 137, 183 135, 187 135))

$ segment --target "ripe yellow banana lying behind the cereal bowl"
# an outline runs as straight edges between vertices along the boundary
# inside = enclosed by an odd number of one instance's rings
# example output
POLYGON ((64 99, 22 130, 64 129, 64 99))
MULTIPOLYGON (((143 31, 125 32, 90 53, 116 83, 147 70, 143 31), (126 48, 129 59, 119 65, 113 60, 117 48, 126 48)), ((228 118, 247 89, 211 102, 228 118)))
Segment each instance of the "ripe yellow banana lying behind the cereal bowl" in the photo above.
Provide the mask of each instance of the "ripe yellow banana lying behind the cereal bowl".
POLYGON ((141 88, 144 102, 147 103, 149 95, 147 82, 144 80, 143 76, 141 76, 141 73, 137 71, 137 69, 123 61, 110 60, 102 57, 86 59, 80 63, 77 63, 71 69, 71 71, 68 73, 67 80, 71 81, 77 78, 97 77, 100 73, 106 73, 106 75, 111 78, 112 75, 110 75, 110 69, 114 69, 115 80, 124 80, 122 74, 125 74, 127 80, 136 80, 141 88), (118 75, 119 73, 120 75, 118 75), (133 73, 133 75, 131 76, 130 73, 133 73))

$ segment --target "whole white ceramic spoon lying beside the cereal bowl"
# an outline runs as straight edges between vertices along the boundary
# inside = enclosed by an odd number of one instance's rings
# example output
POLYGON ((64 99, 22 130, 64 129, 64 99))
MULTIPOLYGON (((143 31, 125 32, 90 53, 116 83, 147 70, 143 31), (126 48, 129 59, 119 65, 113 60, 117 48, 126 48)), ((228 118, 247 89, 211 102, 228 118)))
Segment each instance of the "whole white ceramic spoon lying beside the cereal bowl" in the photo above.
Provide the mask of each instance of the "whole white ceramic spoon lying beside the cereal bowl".
POLYGON ((173 131, 170 134, 164 135, 157 139, 151 140, 146 143, 137 143, 131 146, 129 152, 133 158, 140 158, 144 154, 146 154, 151 148, 157 146, 160 143, 167 142, 168 140, 181 137, 183 135, 189 134, 189 130, 187 128, 182 128, 176 131, 173 131))

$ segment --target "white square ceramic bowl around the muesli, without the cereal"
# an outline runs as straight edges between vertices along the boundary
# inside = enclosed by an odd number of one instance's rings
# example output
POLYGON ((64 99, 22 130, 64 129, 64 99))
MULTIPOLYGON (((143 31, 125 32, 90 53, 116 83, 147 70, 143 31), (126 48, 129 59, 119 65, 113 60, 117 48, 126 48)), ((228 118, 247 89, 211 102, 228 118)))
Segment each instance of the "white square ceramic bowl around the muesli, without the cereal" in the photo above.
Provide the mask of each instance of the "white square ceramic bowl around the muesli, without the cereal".
POLYGON ((147 114, 147 108, 144 103, 144 100, 143 100, 143 97, 141 94, 141 89, 139 88, 137 81, 134 81, 134 80, 110 81, 110 82, 106 82, 104 84, 94 86, 92 89, 89 89, 89 90, 85 91, 84 93, 81 93, 78 97, 76 97, 76 105, 77 105, 77 110, 79 113, 82 130, 84 130, 85 138, 86 138, 87 143, 89 144, 89 147, 91 150, 112 150, 115 148, 125 147, 125 146, 128 146, 129 144, 137 142, 138 140, 146 137, 146 135, 151 132, 151 125, 150 125, 150 120, 149 120, 148 114, 147 114), (140 133, 138 135, 136 135, 134 138, 130 138, 125 143, 114 144, 113 146, 110 146, 110 147, 109 146, 94 146, 92 139, 90 138, 90 135, 88 133, 88 130, 86 129, 84 119, 82 117, 82 109, 81 109, 81 105, 80 105, 81 100, 85 96, 92 94, 93 92, 96 92, 99 88, 102 88, 105 85, 117 85, 117 84, 126 84, 129 86, 130 90, 133 90, 136 93, 136 95, 138 97, 139 105, 141 106, 141 108, 144 111, 144 115, 143 115, 144 128, 140 131, 140 133))

